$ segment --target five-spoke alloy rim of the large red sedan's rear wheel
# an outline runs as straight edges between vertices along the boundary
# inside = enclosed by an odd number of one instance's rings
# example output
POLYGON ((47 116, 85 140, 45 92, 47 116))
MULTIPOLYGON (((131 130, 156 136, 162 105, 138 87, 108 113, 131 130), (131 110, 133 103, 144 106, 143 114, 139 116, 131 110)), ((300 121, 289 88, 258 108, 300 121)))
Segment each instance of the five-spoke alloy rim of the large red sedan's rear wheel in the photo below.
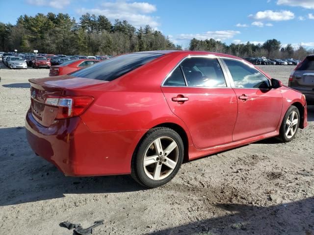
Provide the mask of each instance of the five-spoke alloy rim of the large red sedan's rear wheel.
POLYGON ((170 137, 159 137, 145 151, 143 166, 145 174, 152 180, 168 177, 179 161, 179 147, 170 137))

